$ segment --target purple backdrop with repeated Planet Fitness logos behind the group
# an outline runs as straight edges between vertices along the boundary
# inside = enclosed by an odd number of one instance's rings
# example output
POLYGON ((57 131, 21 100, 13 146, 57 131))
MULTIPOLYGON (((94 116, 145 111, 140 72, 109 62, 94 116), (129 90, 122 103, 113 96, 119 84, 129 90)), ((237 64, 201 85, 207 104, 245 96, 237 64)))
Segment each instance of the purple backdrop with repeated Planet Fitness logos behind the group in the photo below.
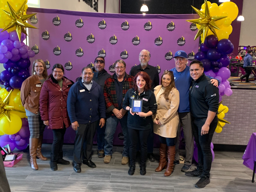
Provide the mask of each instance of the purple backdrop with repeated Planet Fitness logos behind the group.
MULTIPOLYGON (((105 69, 114 73, 113 63, 123 59, 126 73, 139 65, 142 49, 150 52, 149 64, 158 69, 159 76, 175 67, 173 55, 178 50, 188 54, 189 61, 198 51, 199 40, 195 24, 186 22, 194 15, 131 15, 72 12, 54 9, 29 8, 27 14, 37 13, 28 23, 39 28, 29 29, 29 47, 34 59, 45 61, 48 74, 55 63, 65 67, 65 76, 73 81, 80 77, 81 69, 93 67, 97 56, 105 57, 105 69)), ((65 143, 73 143, 75 132, 69 128, 65 143)), ((52 131, 45 130, 44 141, 51 143, 52 131)), ((156 140, 157 137, 156 137, 156 140)), ((114 145, 123 144, 118 126, 114 145)), ((156 144, 158 141, 155 142, 156 144)))

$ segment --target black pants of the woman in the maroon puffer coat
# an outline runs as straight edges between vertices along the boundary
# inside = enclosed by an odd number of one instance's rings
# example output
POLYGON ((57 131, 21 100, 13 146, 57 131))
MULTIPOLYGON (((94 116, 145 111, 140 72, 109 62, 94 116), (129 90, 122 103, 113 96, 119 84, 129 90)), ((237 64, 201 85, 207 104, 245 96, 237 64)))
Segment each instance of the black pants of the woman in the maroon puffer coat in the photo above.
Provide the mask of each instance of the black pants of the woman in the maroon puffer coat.
POLYGON ((53 142, 51 146, 51 161, 57 161, 63 158, 63 141, 66 132, 66 126, 63 122, 63 129, 53 129, 53 142))

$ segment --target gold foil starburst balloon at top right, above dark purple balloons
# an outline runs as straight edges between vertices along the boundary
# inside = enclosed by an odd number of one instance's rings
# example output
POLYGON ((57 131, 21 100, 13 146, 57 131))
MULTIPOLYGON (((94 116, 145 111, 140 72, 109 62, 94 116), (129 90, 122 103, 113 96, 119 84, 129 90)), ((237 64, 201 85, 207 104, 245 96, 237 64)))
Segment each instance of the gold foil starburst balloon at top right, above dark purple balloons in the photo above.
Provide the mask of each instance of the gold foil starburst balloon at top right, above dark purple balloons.
POLYGON ((198 37, 200 37, 201 34, 203 34, 203 43, 204 43, 209 29, 212 31, 212 33, 214 35, 217 36, 215 29, 220 30, 220 28, 216 25, 215 21, 226 18, 227 16, 211 16, 210 12, 209 12, 207 0, 205 0, 205 13, 201 12, 199 9, 197 9, 195 7, 193 7, 193 9, 200 16, 200 18, 186 20, 186 21, 200 25, 200 28, 199 28, 194 40, 196 40, 198 37))

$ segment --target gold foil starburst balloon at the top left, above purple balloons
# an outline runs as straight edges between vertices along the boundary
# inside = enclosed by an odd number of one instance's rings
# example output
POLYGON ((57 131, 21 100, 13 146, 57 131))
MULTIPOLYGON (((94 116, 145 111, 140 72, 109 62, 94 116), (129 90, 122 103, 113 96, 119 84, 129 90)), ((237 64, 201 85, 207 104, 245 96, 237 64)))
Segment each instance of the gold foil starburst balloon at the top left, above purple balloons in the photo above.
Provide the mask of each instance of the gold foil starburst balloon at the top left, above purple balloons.
POLYGON ((17 12, 15 12, 15 10, 12 8, 12 6, 10 6, 10 4, 8 2, 7 2, 7 5, 9 7, 10 12, 8 12, 2 8, 1 9, 11 19, 11 21, 1 32, 5 31, 7 29, 10 29, 12 27, 16 27, 16 32, 17 32, 17 35, 18 35, 19 41, 20 41, 22 32, 27 35, 24 27, 37 29, 36 27, 26 23, 27 19, 36 15, 36 13, 29 14, 29 15, 23 15, 26 1, 24 1, 24 3, 20 6, 20 8, 17 10, 17 12))

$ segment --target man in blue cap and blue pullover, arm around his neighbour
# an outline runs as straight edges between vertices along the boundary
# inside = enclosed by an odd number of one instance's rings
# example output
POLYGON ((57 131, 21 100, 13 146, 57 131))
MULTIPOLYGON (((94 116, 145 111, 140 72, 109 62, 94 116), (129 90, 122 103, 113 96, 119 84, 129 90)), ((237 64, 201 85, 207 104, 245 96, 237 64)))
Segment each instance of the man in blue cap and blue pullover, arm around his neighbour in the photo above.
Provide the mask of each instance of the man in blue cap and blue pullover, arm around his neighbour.
MULTIPOLYGON (((189 66, 187 54, 185 51, 177 51, 174 56, 175 68, 171 69, 174 74, 175 86, 179 91, 179 126, 176 136, 176 152, 174 165, 179 164, 179 137, 180 137, 180 127, 183 127, 185 145, 186 145, 186 157, 184 166, 182 167, 182 172, 187 172, 192 167, 192 157, 194 152, 194 136, 191 127, 191 117, 190 117, 190 106, 189 106, 189 88, 192 78, 189 73, 189 66)), ((218 80, 210 78, 214 86, 218 87, 218 80)))

